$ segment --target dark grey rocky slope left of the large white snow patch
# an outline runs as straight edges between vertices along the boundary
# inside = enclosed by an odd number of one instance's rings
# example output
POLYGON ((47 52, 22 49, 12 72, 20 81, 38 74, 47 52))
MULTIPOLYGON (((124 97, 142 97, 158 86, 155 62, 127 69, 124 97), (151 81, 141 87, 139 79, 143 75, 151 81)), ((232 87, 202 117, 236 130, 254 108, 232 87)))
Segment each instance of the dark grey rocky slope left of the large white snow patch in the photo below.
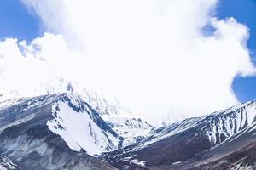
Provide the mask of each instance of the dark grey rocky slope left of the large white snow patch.
POLYGON ((64 97, 65 94, 24 99, 1 108, 0 157, 11 160, 16 169, 114 169, 83 151, 69 149, 61 136, 49 130, 46 122, 54 118, 51 106, 55 99, 64 97))

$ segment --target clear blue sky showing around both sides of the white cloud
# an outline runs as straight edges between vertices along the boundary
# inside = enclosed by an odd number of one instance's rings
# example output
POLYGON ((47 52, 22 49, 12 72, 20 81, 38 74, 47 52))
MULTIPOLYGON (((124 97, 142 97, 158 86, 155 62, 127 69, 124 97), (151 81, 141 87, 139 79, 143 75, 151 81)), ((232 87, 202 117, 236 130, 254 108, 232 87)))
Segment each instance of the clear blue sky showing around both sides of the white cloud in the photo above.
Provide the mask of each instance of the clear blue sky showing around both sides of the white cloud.
MULTIPOLYGON (((256 64, 256 1, 255 0, 222 0, 216 13, 220 19, 234 17, 250 29, 247 47, 256 64)), ((5 0, 0 4, 0 38, 17 37, 31 41, 42 35, 40 21, 34 14, 27 12, 20 0, 5 0)), ((256 99, 256 77, 240 77, 234 79, 232 88, 241 102, 256 99)))

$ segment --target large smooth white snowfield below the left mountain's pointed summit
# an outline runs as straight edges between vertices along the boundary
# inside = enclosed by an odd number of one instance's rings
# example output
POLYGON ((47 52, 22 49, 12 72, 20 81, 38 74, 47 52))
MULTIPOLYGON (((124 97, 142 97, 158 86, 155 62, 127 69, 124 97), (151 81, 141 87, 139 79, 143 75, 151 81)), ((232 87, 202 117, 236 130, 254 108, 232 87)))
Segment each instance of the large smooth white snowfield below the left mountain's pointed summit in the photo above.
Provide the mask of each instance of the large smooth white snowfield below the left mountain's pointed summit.
POLYGON ((47 122, 49 129, 59 134, 73 150, 83 149, 90 155, 98 155, 119 147, 117 133, 79 96, 67 94, 56 101, 52 115, 54 118, 47 122))

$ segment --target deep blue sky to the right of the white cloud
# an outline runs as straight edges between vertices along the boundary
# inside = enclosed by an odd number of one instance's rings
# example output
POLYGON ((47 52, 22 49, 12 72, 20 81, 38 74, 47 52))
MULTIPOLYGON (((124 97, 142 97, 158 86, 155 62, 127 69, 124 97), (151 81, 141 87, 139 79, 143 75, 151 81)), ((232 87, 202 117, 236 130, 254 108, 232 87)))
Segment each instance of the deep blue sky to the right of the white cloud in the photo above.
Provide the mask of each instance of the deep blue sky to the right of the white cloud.
MULTIPOLYGON (((247 47, 256 64, 256 1, 255 0, 222 0, 218 5, 218 18, 234 17, 250 29, 247 47)), ((236 98, 241 102, 256 99, 256 77, 239 77, 234 79, 232 88, 236 98)))

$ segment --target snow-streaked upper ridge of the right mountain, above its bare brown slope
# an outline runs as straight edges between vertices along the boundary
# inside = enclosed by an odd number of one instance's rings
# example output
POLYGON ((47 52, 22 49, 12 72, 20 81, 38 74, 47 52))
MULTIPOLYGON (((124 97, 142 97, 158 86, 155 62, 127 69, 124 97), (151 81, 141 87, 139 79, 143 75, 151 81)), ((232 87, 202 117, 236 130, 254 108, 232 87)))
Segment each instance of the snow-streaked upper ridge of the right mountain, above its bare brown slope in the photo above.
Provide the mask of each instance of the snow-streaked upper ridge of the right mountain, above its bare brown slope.
POLYGON ((238 133, 256 128, 256 102, 251 101, 242 105, 235 105, 227 110, 216 111, 207 116, 189 118, 172 123, 167 127, 156 128, 149 133, 142 143, 146 146, 191 128, 196 130, 195 138, 207 138, 213 147, 238 133))

